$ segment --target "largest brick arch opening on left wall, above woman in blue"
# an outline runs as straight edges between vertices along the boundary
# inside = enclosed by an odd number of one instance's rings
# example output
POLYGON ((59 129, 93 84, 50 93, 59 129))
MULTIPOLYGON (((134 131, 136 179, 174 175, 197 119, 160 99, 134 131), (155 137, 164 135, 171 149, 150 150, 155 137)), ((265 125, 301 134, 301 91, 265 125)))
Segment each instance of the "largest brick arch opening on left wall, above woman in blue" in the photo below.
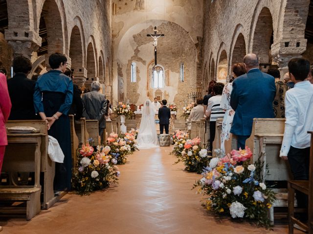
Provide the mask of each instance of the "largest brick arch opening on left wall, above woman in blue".
POLYGON ((43 44, 39 48, 40 54, 48 56, 55 52, 65 54, 67 27, 63 1, 45 0, 37 20, 38 26, 42 25, 39 29, 39 36, 43 38, 43 44))

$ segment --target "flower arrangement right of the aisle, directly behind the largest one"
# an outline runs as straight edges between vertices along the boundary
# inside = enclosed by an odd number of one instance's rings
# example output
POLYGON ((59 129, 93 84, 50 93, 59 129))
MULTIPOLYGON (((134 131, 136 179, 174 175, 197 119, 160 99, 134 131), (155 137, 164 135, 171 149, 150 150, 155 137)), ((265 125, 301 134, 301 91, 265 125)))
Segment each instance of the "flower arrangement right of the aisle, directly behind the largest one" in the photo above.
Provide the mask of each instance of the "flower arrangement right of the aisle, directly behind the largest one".
MULTIPOLYGON (((182 146, 182 151, 177 155, 178 160, 175 164, 183 162, 187 172, 196 172, 201 174, 203 168, 208 165, 209 157, 207 150, 200 147, 201 139, 187 139, 182 146)), ((181 147, 181 145, 179 145, 181 147)))

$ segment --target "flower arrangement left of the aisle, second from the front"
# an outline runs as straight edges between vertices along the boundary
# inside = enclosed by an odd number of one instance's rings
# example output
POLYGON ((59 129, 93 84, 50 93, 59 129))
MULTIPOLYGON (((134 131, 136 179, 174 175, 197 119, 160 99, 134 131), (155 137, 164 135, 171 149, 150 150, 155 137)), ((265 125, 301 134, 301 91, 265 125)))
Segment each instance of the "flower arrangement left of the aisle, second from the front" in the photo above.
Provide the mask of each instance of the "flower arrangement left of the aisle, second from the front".
POLYGON ((124 138, 118 137, 117 134, 111 133, 107 139, 107 145, 111 148, 111 155, 117 160, 117 164, 125 164, 128 155, 131 154, 131 146, 127 144, 124 138))

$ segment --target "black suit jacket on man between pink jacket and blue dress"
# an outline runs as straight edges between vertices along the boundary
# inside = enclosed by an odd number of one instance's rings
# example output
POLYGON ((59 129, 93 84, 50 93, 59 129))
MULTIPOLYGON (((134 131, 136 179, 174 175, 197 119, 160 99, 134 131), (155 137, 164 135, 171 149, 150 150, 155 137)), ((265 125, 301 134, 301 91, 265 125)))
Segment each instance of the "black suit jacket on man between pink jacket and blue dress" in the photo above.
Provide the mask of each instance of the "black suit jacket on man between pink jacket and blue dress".
POLYGON ((12 102, 9 119, 40 119, 35 113, 34 90, 36 81, 28 79, 25 74, 17 73, 8 79, 8 90, 12 102))

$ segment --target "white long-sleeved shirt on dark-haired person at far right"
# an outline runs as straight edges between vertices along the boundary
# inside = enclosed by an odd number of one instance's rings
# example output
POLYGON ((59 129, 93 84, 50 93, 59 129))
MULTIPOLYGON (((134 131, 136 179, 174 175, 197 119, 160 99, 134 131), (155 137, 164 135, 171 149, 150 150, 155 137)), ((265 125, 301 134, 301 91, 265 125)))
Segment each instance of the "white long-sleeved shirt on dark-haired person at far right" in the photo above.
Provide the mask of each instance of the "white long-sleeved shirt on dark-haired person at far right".
POLYGON ((298 149, 310 147, 313 130, 313 85, 301 81, 285 95, 285 133, 280 156, 287 156, 290 146, 298 149))

